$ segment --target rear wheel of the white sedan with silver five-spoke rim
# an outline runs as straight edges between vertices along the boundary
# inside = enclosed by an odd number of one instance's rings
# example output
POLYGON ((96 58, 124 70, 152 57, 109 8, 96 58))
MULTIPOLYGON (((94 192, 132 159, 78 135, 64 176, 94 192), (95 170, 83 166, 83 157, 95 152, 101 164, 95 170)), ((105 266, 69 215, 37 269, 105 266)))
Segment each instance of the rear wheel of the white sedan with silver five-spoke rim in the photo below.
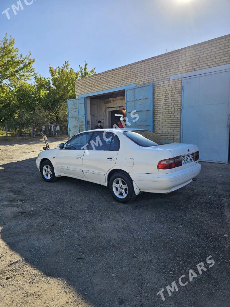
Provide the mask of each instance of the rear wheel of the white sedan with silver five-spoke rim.
POLYGON ((128 203, 136 197, 132 179, 122 172, 112 175, 109 180, 109 190, 113 198, 120 203, 128 203))

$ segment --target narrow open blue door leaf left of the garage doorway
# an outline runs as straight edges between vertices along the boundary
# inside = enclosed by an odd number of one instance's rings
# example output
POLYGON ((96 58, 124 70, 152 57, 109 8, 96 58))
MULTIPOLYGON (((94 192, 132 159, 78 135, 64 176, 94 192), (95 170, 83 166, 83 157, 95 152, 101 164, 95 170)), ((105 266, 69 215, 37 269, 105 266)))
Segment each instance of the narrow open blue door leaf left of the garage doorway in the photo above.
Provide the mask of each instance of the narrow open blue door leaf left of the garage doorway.
POLYGON ((85 98, 67 100, 69 138, 86 130, 85 98))

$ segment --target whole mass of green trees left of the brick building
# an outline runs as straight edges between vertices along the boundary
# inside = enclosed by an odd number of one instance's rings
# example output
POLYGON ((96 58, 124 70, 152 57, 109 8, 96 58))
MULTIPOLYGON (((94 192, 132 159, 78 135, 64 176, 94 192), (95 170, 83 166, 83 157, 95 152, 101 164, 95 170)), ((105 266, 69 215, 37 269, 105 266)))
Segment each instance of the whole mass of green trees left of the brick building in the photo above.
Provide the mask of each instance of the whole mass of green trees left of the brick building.
POLYGON ((75 80, 96 74, 96 68, 88 70, 85 61, 75 72, 67 60, 61 67, 49 65, 49 76, 44 77, 34 73, 34 61, 30 52, 19 52, 11 36, 0 41, 0 123, 24 132, 29 126, 67 125, 66 100, 75 98, 75 80))

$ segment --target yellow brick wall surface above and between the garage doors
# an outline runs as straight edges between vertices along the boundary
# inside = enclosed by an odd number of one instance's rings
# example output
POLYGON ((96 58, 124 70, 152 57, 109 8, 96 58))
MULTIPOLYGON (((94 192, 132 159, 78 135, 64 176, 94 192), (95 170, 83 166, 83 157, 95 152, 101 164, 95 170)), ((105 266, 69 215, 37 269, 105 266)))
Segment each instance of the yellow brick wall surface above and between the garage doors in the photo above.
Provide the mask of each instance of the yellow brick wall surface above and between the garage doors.
POLYGON ((75 81, 76 98, 128 84, 154 83, 154 131, 180 140, 181 79, 170 76, 230 64, 230 34, 75 81))

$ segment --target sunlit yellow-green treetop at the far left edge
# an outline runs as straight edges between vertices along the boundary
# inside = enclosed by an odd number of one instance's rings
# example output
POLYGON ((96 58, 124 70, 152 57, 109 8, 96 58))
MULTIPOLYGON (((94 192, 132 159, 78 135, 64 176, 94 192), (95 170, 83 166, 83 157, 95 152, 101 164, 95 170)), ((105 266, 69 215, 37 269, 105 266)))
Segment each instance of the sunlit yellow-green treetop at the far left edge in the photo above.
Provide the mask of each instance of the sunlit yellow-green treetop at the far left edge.
POLYGON ((5 86, 17 87, 22 81, 28 81, 33 76, 34 59, 31 52, 25 57, 14 47, 15 40, 6 36, 0 41, 0 90, 5 86))

